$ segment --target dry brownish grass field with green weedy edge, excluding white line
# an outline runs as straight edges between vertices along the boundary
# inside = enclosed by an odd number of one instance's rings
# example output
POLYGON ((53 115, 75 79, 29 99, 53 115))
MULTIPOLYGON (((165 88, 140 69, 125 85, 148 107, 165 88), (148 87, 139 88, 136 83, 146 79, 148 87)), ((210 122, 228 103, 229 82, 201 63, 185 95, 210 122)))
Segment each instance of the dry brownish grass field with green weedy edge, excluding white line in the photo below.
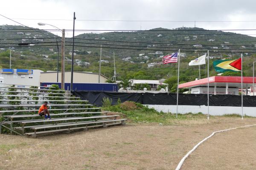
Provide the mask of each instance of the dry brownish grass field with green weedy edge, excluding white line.
MULTIPOLYGON (((173 170, 213 131, 256 124, 252 117, 211 116, 207 120, 202 114, 187 114, 173 119, 171 114, 165 117, 140 109, 132 109, 132 114, 125 109, 122 116, 131 118, 126 126, 36 139, 0 135, 0 170, 173 170), (144 112, 148 116, 140 117, 144 112)), ((247 127, 217 134, 198 147, 182 169, 255 169, 255 130, 247 127)))

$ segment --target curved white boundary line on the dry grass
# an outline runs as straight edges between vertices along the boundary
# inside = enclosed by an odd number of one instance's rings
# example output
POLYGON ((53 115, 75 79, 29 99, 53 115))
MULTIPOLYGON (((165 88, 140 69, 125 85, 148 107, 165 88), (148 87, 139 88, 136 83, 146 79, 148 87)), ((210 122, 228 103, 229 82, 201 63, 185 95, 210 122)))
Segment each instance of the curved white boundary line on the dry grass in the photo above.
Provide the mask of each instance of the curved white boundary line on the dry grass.
POLYGON ((238 128, 242 128, 242 127, 250 127, 250 126, 255 126, 256 124, 254 125, 247 125, 247 126, 240 126, 240 127, 234 127, 234 128, 231 128, 231 129, 226 129, 226 130, 219 130, 219 131, 215 131, 213 132, 210 136, 208 136, 207 138, 205 138, 204 140, 202 140, 201 142, 199 142, 197 145, 195 145, 195 147, 193 147, 192 150, 190 150, 181 160, 180 160, 180 163, 178 164, 178 166, 176 167, 175 170, 180 170, 181 166, 183 165, 184 161, 187 159, 187 157, 195 151, 195 149, 200 145, 202 144, 204 141, 206 141, 207 139, 209 139, 210 137, 212 137, 213 135, 215 135, 215 133, 219 133, 219 132, 225 132, 225 131, 228 131, 228 130, 234 130, 234 129, 238 129, 238 128))

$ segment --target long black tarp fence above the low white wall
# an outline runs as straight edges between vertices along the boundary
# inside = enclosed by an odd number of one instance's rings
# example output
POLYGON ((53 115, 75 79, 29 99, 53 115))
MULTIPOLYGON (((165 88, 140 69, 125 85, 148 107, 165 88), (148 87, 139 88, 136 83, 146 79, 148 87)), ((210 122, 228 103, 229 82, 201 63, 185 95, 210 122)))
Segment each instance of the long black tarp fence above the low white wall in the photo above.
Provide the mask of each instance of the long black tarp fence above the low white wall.
MULTIPOLYGON (((102 106, 103 97, 112 99, 112 105, 121 102, 133 101, 143 105, 176 105, 176 94, 167 93, 118 93, 73 91, 74 95, 91 104, 102 106)), ((179 94, 179 105, 207 105, 207 94, 179 94)), ((209 95, 210 106, 241 106, 241 96, 237 95, 209 95)), ((243 96, 243 106, 256 107, 256 96, 243 96)))

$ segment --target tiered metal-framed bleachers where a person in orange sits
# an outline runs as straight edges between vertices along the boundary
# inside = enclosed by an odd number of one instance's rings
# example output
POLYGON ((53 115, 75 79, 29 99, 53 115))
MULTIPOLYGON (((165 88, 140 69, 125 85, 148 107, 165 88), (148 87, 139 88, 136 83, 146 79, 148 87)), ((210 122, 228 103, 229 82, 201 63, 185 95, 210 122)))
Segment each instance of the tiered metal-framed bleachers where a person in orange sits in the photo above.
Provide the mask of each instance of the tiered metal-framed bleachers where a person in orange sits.
POLYGON ((71 95, 56 89, 0 87, 0 133, 36 137, 38 134, 125 125, 126 119, 120 119, 119 115, 108 115, 108 111, 100 111, 87 100, 71 95), (48 109, 50 120, 38 115, 38 108, 44 101, 51 106, 48 109))

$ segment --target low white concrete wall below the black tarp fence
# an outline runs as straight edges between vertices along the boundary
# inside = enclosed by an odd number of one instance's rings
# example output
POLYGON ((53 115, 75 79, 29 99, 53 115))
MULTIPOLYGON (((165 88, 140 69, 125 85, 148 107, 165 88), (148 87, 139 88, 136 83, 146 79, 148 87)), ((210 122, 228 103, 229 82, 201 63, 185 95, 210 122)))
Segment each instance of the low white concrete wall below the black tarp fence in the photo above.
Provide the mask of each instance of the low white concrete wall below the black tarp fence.
MULTIPOLYGON (((154 108, 157 111, 163 111, 165 113, 176 113, 176 105, 148 105, 149 108, 154 108)), ((193 105, 179 105, 178 113, 208 113, 208 108, 205 105, 193 106, 193 105)), ((256 107, 243 107, 243 113, 247 116, 256 117, 256 107)), ((209 106, 209 115, 218 116, 224 114, 241 114, 241 107, 234 106, 209 106)))

